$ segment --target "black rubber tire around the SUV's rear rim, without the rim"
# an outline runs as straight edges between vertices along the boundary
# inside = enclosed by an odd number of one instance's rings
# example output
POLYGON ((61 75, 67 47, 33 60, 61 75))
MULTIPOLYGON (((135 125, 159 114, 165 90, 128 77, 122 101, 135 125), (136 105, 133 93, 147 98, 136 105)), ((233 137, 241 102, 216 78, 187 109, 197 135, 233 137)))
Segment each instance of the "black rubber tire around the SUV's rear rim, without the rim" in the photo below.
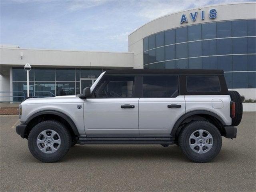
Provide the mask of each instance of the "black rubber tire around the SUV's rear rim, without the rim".
POLYGON ((181 130, 178 138, 178 143, 182 152, 187 156, 188 159, 192 160, 193 162, 204 163, 204 162, 209 162, 210 160, 212 160, 214 157, 218 155, 222 146, 222 138, 221 138, 220 131, 216 128, 216 126, 214 126, 210 122, 194 121, 194 122, 188 123, 181 130), (209 151, 202 154, 194 152, 190 148, 190 144, 189 144, 189 138, 191 134, 196 130, 200 130, 200 129, 206 130, 207 132, 209 132, 213 138, 212 148, 209 151))

